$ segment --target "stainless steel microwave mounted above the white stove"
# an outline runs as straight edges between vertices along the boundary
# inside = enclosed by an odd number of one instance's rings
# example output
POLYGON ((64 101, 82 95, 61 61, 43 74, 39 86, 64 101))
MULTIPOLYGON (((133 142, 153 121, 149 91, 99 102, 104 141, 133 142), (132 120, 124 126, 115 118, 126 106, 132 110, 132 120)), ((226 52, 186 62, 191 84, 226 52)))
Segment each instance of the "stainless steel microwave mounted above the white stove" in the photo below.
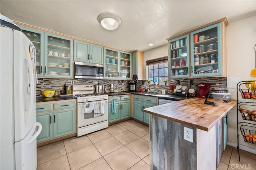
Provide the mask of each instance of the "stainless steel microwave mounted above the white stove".
POLYGON ((103 79, 103 65, 94 63, 74 63, 75 79, 103 79))

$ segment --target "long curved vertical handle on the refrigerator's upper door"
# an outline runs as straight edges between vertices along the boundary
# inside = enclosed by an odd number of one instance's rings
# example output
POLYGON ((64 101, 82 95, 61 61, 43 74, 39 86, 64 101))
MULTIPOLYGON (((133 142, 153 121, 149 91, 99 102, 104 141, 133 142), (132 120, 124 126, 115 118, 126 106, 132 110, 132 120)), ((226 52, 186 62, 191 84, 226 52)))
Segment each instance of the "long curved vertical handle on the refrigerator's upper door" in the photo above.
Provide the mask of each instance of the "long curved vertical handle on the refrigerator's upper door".
POLYGON ((28 125, 28 122, 30 121, 30 117, 32 114, 32 108, 34 105, 34 73, 33 73, 33 66, 31 57, 28 51, 28 48, 26 45, 24 45, 24 50, 26 53, 26 60, 28 61, 28 72, 29 72, 29 84, 30 84, 30 92, 29 92, 29 104, 28 104, 28 110, 25 111, 25 126, 28 125))

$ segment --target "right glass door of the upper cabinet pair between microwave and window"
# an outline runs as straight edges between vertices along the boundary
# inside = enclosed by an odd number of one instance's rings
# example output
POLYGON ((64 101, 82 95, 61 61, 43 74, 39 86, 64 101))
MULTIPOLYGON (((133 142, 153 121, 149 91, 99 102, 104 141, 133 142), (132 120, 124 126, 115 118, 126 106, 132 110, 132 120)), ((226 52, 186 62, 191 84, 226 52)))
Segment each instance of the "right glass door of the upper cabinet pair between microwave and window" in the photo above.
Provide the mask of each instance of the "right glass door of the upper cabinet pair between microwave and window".
POLYGON ((119 51, 119 65, 120 65, 120 71, 119 71, 119 77, 120 79, 130 79, 130 65, 131 65, 131 53, 119 51))

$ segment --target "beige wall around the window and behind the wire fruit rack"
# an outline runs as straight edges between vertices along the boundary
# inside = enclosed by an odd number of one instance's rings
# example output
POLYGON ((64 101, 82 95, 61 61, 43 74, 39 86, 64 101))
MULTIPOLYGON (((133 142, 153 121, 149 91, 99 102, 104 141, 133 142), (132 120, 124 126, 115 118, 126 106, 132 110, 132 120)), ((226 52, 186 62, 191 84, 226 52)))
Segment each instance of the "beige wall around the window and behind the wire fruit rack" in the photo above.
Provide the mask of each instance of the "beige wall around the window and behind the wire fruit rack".
MULTIPOLYGON (((236 99, 236 84, 239 81, 256 79, 250 76, 255 68, 256 16, 246 18, 227 26, 227 83, 232 99, 236 99)), ((146 60, 168 55, 168 44, 144 51, 144 76, 148 79, 146 60)), ((240 96, 239 96, 240 97, 240 96)), ((255 101, 256 102, 256 101, 255 101)), ((256 108, 255 108, 256 110, 256 108)), ((239 115, 239 121, 242 121, 239 115)), ((228 144, 236 147, 236 106, 228 113, 228 144)), ((246 143, 240 134, 240 148, 256 153, 255 144, 246 143), (254 148, 254 149, 253 149, 254 148)))

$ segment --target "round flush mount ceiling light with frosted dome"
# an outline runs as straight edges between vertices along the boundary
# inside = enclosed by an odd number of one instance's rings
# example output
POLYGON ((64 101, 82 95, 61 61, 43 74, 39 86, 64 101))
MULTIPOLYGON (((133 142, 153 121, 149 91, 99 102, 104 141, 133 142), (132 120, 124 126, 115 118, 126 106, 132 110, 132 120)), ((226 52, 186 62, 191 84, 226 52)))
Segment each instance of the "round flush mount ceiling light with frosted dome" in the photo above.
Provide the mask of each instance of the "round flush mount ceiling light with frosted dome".
POLYGON ((103 13, 98 16, 98 22, 107 30, 114 30, 121 24, 121 19, 112 13, 103 13))

